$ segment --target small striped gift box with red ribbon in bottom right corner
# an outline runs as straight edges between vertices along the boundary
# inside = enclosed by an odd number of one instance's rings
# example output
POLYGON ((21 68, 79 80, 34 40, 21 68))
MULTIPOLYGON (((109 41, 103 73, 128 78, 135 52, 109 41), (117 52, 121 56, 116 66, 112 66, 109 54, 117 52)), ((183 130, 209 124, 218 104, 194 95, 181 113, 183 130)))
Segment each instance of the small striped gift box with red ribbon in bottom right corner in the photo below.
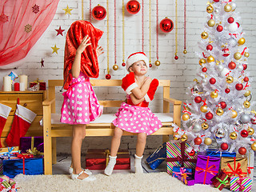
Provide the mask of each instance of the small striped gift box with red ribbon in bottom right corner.
POLYGON ((249 177, 239 178, 232 176, 230 178, 230 190, 233 191, 251 191, 252 179, 249 177))

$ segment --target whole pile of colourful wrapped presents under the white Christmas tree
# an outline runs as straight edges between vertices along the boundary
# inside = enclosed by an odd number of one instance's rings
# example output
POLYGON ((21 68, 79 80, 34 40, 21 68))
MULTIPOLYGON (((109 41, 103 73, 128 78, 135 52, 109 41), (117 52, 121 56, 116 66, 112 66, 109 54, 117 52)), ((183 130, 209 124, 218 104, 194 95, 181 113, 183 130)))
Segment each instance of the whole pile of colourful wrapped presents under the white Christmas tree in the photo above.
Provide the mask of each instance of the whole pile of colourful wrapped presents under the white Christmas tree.
POLYGON ((194 152, 186 142, 170 141, 162 144, 146 159, 154 170, 167 162, 167 173, 187 186, 211 185, 222 190, 251 191, 254 152, 246 155, 208 149, 194 152))

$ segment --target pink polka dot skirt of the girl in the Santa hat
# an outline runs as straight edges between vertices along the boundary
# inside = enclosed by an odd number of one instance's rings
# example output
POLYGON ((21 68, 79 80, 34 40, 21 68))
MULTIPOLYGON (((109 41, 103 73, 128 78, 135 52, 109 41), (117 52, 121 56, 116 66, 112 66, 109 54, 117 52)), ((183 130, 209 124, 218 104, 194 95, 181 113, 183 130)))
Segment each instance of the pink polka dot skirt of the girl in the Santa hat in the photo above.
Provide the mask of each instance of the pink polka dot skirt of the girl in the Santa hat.
POLYGON ((130 133, 146 133, 153 134, 162 127, 162 122, 155 116, 149 107, 133 106, 126 102, 115 114, 113 124, 122 130, 130 133))

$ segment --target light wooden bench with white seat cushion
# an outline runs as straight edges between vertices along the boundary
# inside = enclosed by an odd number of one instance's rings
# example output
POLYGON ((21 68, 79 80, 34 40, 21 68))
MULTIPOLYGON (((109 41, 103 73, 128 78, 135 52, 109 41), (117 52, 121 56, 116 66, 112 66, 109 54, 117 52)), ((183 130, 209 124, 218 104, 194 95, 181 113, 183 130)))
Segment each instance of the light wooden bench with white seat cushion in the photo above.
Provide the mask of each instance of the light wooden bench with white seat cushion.
MULTIPOLYGON (((162 122, 162 128, 153 135, 163 135, 163 141, 169 140, 169 135, 173 134, 172 123, 181 125, 181 105, 182 102, 170 98, 170 80, 159 80, 158 90, 163 89, 163 113, 154 113, 162 122), (170 103, 173 104, 173 113, 170 113, 170 103)), ((91 79, 92 86, 113 87, 121 86, 122 80, 102 80, 91 79)), ((55 87, 62 86, 62 80, 49 80, 49 97, 42 102, 43 105, 43 136, 44 136, 44 167, 45 174, 52 174, 52 163, 56 162, 56 138, 71 137, 72 126, 59 122, 60 114, 55 114, 55 87)), ((125 94, 125 93, 124 93, 125 94)), ((114 98, 114 94, 113 94, 114 98)), ((104 107, 119 107, 123 101, 99 101, 104 107)), ((86 126, 86 137, 90 136, 112 136, 114 134, 114 114, 102 114, 94 122, 86 126)), ((134 135, 124 131, 123 135, 134 135)))

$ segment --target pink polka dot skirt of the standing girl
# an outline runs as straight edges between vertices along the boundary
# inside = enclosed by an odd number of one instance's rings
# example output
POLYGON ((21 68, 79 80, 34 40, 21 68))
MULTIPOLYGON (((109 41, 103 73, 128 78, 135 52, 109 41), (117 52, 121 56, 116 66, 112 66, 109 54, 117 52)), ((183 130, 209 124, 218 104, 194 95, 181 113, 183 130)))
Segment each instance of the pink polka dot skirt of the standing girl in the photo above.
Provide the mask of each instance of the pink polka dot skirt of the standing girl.
POLYGON ((80 72, 78 78, 73 78, 70 87, 62 94, 61 122, 68 124, 89 124, 102 114, 94 94, 90 79, 80 72))

